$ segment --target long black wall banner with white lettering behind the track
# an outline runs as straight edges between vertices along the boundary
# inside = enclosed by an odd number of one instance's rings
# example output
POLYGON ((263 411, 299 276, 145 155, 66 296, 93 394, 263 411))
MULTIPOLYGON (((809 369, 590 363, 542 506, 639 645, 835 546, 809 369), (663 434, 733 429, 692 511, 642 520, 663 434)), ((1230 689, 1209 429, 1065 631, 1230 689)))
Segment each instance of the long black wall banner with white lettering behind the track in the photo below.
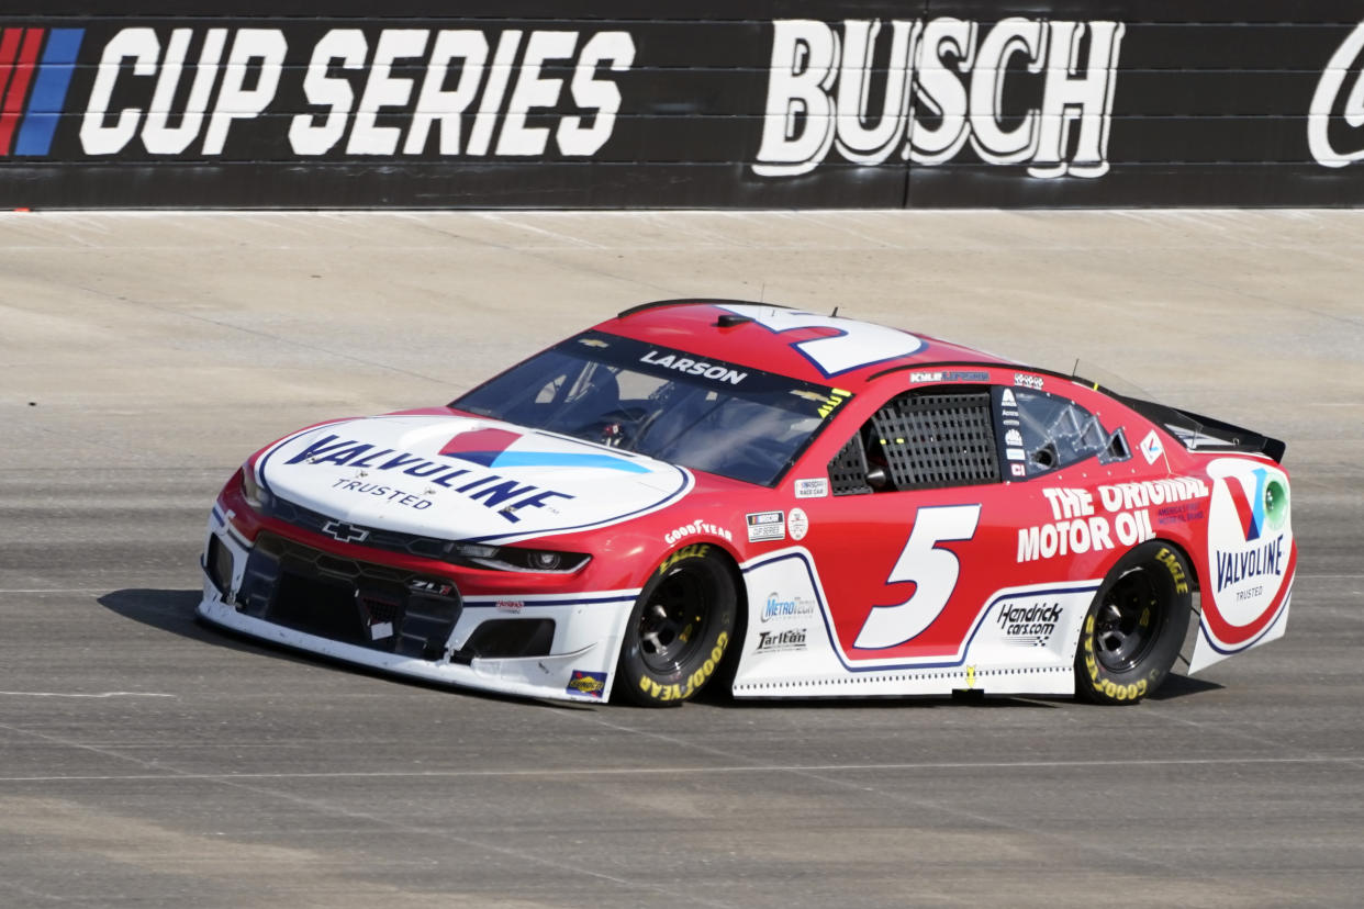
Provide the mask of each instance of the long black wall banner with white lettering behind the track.
POLYGON ((1357 0, 656 5, 15 0, 0 207, 1364 204, 1357 0))

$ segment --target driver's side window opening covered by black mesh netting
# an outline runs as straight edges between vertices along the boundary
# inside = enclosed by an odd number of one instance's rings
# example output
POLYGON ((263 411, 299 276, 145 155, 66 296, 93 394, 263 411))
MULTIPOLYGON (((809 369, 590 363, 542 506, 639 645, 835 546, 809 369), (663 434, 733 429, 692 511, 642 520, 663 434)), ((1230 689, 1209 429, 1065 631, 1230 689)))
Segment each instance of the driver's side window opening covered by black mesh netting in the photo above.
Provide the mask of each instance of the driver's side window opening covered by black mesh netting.
POLYGON ((998 480, 990 392, 979 387, 898 395, 829 462, 836 496, 998 480))

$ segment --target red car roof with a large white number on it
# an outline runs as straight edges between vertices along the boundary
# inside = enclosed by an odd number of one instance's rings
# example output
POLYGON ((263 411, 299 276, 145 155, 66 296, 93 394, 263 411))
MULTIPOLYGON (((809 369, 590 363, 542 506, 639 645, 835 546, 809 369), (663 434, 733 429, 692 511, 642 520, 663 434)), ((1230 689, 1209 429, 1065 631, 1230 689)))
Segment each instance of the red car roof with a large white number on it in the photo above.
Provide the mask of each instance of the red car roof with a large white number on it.
POLYGON ((866 388, 887 371, 1011 365, 974 348, 902 328, 743 300, 660 300, 626 309, 596 328, 848 391, 866 388))

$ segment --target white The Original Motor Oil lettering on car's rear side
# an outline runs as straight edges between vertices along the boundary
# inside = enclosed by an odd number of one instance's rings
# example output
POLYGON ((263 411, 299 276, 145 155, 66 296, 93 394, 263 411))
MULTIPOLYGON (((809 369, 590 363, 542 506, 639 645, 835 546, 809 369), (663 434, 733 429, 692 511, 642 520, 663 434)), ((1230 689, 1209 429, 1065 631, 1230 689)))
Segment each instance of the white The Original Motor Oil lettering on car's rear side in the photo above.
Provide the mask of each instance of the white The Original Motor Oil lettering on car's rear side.
POLYGON ((1155 536, 1150 508, 1206 497, 1202 480, 1172 477, 1101 485, 1098 503, 1088 489, 1045 488, 1054 522, 1019 529, 1018 561, 1132 546, 1155 536), (1095 504, 1108 514, 1098 514, 1095 504))

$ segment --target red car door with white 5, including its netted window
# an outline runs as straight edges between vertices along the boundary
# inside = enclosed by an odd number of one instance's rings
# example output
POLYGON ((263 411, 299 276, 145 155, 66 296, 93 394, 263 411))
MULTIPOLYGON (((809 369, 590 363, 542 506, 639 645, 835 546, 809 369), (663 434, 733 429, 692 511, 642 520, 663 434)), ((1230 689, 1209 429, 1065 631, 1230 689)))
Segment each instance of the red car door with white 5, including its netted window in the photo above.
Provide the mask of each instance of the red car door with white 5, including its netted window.
POLYGON ((847 668, 959 658, 1016 542, 988 386, 898 394, 851 433, 812 500, 827 631, 847 668))

